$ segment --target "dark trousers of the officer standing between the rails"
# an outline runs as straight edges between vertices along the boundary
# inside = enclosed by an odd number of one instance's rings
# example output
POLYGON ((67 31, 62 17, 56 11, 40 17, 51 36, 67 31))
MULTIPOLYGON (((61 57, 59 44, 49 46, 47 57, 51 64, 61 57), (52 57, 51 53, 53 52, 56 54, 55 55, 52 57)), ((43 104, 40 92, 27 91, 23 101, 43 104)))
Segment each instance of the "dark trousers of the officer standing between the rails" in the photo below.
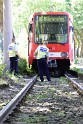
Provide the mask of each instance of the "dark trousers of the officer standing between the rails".
POLYGON ((49 74, 46 59, 38 59, 37 60, 37 66, 38 66, 38 71, 39 71, 39 75, 40 75, 40 80, 41 81, 44 80, 43 76, 45 74, 47 77, 47 80, 50 81, 50 74, 49 74))

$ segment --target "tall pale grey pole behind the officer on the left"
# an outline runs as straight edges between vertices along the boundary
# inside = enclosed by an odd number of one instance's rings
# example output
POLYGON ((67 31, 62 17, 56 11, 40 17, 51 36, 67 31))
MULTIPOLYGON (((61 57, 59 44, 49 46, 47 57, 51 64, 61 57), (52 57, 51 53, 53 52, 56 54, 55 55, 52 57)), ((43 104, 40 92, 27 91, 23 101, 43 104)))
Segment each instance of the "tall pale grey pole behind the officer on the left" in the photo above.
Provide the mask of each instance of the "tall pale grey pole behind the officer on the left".
POLYGON ((5 71, 9 70, 8 45, 12 39, 12 0, 3 0, 3 57, 6 65, 5 71))

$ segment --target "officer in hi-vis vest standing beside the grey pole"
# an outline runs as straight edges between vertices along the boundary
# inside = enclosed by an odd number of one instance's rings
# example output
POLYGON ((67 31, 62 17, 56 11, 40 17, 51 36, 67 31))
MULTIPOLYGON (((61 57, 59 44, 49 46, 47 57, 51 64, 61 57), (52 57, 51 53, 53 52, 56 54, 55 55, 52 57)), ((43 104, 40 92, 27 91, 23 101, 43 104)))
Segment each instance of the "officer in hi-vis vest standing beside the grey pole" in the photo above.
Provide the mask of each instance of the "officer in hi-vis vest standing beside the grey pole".
POLYGON ((8 46, 8 54, 10 58, 10 73, 14 72, 14 75, 18 74, 18 53, 17 45, 15 43, 15 38, 12 38, 12 43, 8 46))

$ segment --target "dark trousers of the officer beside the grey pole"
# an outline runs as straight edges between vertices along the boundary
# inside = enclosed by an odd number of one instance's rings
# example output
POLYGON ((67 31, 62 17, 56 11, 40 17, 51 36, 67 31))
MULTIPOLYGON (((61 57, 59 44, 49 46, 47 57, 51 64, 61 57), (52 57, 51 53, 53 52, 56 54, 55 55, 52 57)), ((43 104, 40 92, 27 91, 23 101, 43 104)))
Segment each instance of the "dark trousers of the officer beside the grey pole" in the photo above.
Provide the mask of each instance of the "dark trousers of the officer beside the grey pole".
POLYGON ((10 73, 14 72, 14 74, 18 73, 18 58, 10 57, 10 73))

